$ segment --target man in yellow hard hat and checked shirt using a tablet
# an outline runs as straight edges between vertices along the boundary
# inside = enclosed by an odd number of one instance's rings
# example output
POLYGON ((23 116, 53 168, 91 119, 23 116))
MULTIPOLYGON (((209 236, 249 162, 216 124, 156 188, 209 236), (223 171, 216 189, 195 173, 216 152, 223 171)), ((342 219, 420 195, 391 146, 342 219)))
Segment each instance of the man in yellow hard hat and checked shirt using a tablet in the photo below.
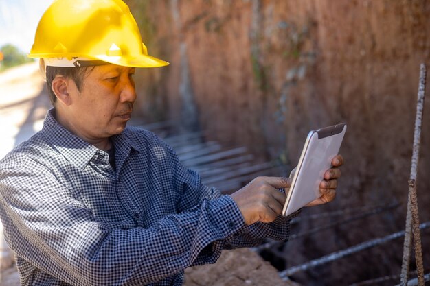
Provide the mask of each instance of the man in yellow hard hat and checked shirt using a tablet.
MULTIPOLYGON (((186 267, 223 249, 288 238, 278 190, 288 178, 220 195, 155 134, 126 127, 135 67, 168 63, 148 56, 122 1, 54 2, 30 56, 42 58, 54 108, 0 163, 0 215, 23 286, 181 285, 186 267)), ((335 197, 342 161, 310 205, 335 197)))

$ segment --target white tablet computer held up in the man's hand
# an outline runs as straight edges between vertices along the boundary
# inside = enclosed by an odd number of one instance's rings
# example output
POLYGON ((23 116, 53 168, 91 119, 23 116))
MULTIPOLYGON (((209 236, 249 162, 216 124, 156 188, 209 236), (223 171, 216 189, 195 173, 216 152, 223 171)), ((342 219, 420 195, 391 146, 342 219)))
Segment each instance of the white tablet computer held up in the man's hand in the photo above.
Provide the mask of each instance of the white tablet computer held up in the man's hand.
POLYGON ((339 153, 345 132, 345 123, 309 132, 282 215, 291 215, 320 197, 319 184, 324 180, 324 173, 332 167, 332 159, 339 153))

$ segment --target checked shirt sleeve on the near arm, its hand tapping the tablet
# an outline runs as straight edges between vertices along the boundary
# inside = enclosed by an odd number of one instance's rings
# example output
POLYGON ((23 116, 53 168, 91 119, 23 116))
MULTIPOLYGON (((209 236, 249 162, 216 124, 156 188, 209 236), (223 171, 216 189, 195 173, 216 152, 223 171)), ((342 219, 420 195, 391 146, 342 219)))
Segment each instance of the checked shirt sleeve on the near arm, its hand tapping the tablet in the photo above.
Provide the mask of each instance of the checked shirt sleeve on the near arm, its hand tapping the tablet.
MULTIPOLYGON (((218 259, 244 221, 227 195, 207 194, 150 228, 111 228, 30 158, 0 172, 0 215, 16 254, 71 285, 141 285, 218 259), (217 243, 218 241, 218 243, 217 243)), ((211 191, 209 191, 211 192, 211 191)))

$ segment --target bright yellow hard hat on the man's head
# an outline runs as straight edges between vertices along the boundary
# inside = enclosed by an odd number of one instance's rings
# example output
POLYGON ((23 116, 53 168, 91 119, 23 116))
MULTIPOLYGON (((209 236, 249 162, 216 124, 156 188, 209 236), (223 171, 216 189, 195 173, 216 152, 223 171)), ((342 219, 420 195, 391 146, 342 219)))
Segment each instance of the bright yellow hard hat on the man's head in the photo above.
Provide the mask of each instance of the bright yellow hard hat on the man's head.
POLYGON ((124 67, 169 64, 148 56, 139 27, 121 0, 54 1, 38 24, 28 56, 94 59, 124 67))

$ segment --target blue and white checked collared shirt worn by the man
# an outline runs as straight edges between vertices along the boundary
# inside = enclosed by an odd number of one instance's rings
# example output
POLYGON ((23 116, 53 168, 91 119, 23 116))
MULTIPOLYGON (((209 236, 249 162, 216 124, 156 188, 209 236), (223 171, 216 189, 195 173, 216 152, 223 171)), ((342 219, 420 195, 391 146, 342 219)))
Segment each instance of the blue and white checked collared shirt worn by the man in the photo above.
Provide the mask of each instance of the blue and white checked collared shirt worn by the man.
POLYGON ((155 134, 128 127, 106 152, 49 110, 0 161, 0 215, 21 285, 182 285, 227 248, 286 240, 291 217, 245 226, 234 200, 201 184, 155 134))

